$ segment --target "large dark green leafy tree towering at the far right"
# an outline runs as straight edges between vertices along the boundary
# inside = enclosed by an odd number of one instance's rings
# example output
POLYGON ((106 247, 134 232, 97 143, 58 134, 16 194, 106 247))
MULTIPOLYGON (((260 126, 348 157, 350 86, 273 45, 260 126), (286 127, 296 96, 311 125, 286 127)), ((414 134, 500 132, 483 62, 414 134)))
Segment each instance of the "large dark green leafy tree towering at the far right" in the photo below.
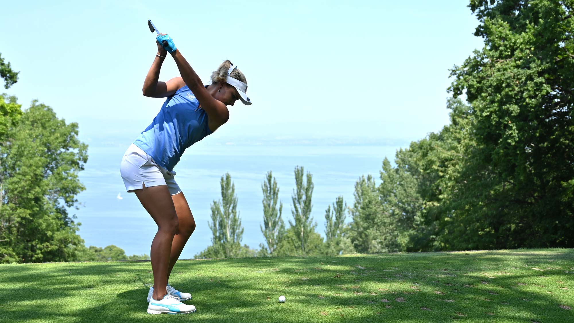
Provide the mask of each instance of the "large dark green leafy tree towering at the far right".
MULTIPOLYGON (((574 1, 472 0, 484 48, 450 91, 475 119, 446 249, 573 247, 574 1)), ((453 191, 454 193, 454 191, 453 191)))

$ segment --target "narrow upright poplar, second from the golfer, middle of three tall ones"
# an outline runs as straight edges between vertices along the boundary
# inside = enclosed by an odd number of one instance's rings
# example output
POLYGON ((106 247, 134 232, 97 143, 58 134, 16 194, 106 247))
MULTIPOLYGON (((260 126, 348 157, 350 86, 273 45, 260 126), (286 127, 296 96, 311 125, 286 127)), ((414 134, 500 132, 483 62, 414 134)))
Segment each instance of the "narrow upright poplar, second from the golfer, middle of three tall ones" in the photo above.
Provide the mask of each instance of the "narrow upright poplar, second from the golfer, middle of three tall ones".
POLYGON ((259 225, 267 245, 259 245, 265 255, 273 255, 285 234, 285 223, 281 218, 283 203, 279 201, 279 187, 271 171, 267 172, 265 182, 261 185, 263 191, 263 226, 259 225))

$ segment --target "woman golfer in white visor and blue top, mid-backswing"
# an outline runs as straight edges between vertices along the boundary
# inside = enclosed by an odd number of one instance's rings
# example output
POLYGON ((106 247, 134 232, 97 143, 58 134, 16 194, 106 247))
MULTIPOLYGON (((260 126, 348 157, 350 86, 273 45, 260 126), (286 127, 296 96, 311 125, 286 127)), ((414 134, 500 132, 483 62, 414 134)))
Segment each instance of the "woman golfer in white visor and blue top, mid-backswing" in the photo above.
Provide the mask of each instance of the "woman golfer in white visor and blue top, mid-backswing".
POLYGON ((166 34, 157 36, 158 52, 144 82, 146 97, 167 97, 160 112, 123 155, 121 174, 128 192, 134 192, 156 221, 152 241, 153 287, 148 294, 148 313, 193 313, 191 299, 169 286, 169 274, 195 229, 195 221, 173 167, 185 148, 210 135, 229 119, 228 105, 240 99, 250 105, 245 75, 224 61, 204 86, 195 71, 166 34), (167 41, 164 47, 163 41, 167 41), (160 67, 169 52, 181 77, 158 82, 160 67))

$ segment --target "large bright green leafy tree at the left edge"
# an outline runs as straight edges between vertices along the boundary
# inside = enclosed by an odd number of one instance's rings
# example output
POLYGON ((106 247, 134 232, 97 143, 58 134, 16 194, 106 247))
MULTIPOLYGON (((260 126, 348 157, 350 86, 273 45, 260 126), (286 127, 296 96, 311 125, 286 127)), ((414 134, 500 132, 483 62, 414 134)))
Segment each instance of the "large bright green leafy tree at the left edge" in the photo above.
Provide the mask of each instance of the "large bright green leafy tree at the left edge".
POLYGON ((0 261, 73 259, 83 240, 66 207, 76 206, 84 190, 78 172, 87 145, 77 139, 76 123, 66 124, 44 104, 32 102, 19 119, 8 122, 0 146, 0 261))

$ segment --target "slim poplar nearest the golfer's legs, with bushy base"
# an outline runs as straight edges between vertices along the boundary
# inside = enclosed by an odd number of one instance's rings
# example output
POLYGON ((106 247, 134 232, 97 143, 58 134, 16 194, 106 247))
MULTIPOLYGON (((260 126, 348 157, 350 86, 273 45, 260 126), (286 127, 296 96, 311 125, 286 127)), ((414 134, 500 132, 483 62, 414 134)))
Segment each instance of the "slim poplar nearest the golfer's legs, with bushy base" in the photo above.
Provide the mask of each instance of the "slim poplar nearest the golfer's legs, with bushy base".
MULTIPOLYGON (((237 195, 231 175, 221 176, 221 197, 211 205, 211 222, 208 225, 213 234, 212 245, 199 253, 198 258, 229 258, 241 257, 245 248, 241 246, 243 226, 237 212, 237 195)), ((249 247, 247 247, 249 249, 249 247)))

